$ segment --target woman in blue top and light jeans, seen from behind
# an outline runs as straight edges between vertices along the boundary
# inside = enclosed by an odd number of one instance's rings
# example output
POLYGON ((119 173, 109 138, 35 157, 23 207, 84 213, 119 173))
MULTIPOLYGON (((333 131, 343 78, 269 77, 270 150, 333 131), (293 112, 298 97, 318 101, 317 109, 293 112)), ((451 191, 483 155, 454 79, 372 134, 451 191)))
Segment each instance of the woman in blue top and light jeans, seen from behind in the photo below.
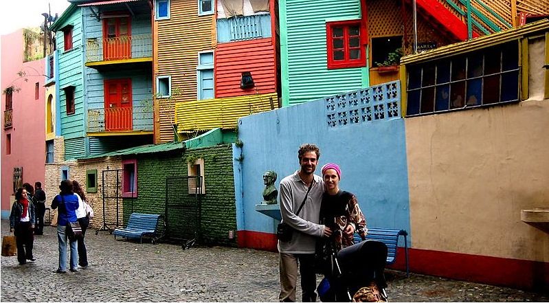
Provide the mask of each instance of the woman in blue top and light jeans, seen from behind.
MULTIPOLYGON (((78 209, 78 197, 73 192, 72 181, 63 180, 59 186, 61 192, 52 201, 52 210, 58 209, 57 216, 57 240, 59 244, 59 267, 56 273, 67 272, 67 225, 76 222, 76 209, 78 209)), ((76 264, 78 244, 71 240, 71 271, 78 271, 76 264)))

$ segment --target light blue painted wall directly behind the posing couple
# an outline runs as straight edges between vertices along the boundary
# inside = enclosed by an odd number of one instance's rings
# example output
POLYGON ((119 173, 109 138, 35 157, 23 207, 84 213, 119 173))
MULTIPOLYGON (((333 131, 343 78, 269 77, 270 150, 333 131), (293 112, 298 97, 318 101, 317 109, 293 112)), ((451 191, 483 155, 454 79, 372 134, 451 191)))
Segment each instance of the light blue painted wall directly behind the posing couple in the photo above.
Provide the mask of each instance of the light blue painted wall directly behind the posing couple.
MULTIPOLYGON (((400 96, 400 93, 399 93, 400 96)), ((299 168, 303 143, 320 147, 320 168, 341 166, 341 189, 357 195, 368 225, 410 230, 404 121, 400 117, 328 127, 324 99, 243 117, 238 137, 243 142, 242 197, 236 197, 239 230, 274 233, 277 221, 254 210, 262 201, 265 170, 280 180, 299 168), (240 204, 240 205, 239 205, 240 204)), ((235 155, 238 153, 235 151, 235 155)), ((235 156, 236 157, 236 156, 235 156)))

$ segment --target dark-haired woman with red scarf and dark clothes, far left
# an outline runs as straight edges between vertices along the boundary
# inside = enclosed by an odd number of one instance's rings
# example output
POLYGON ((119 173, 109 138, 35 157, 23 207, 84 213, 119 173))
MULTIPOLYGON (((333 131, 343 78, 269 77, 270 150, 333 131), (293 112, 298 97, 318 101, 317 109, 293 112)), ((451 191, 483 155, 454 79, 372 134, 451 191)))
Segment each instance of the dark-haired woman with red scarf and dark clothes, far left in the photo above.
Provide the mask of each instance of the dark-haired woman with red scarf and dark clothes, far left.
POLYGON ((15 202, 10 213, 10 232, 14 232, 19 265, 24 265, 27 260, 36 260, 32 256, 34 244, 32 229, 34 229, 34 205, 28 199, 27 190, 19 188, 15 192, 15 202))

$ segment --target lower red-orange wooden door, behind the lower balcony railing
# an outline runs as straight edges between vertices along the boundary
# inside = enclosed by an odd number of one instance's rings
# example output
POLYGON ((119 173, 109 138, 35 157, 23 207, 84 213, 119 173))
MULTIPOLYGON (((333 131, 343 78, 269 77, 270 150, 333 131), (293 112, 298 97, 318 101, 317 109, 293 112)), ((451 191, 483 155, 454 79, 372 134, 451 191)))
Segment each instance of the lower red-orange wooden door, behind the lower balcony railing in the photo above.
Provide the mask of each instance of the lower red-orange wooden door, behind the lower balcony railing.
POLYGON ((131 79, 104 80, 105 130, 131 131, 133 108, 131 79))

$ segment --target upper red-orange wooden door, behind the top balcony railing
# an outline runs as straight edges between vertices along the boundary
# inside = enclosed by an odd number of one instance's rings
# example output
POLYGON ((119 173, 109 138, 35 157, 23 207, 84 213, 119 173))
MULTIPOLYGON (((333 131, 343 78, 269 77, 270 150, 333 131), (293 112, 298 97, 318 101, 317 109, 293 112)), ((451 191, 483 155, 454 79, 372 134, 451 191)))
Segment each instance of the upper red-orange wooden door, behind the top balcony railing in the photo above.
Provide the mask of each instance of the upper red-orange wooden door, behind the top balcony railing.
POLYGON ((103 19, 103 60, 131 58, 130 17, 103 19))

